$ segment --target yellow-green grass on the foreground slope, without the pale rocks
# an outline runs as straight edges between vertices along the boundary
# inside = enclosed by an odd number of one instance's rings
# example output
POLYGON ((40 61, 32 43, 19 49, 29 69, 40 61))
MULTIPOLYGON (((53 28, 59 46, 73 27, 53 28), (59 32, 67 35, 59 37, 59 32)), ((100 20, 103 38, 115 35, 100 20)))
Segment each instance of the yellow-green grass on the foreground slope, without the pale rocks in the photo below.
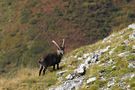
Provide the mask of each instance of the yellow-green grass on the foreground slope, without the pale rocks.
MULTIPOLYGON (((109 51, 111 51, 113 48, 116 48, 114 50, 114 53, 112 55, 109 55, 108 52, 104 53, 102 57, 100 57, 100 63, 97 65, 92 65, 86 72, 85 80, 86 81, 89 77, 96 76, 97 80, 96 82, 86 85, 85 82, 82 86, 82 90, 97 90, 101 86, 105 86, 111 77, 116 77, 116 84, 119 82, 120 78, 127 73, 135 72, 134 69, 128 68, 128 62, 131 60, 135 60, 135 56, 128 55, 127 57, 118 57, 119 53, 130 51, 134 52, 132 49, 132 46, 135 45, 134 40, 129 40, 128 36, 133 32, 131 29, 124 29, 120 32, 123 32, 120 34, 119 32, 114 32, 114 37, 111 38, 111 42, 105 42, 99 41, 95 44, 84 46, 81 48, 78 48, 74 50, 71 53, 68 53, 65 55, 64 59, 62 60, 61 67, 62 69, 58 70, 67 70, 68 71, 62 76, 63 79, 70 73, 73 72, 73 70, 78 66, 80 61, 77 60, 77 58, 74 58, 73 56, 82 56, 84 53, 89 53, 96 51, 97 49, 105 48, 106 46, 110 45, 109 51), (123 44, 124 40, 129 40, 128 46, 125 46, 123 44), (116 69, 112 69, 111 66, 101 66, 101 64, 109 61, 112 59, 116 64, 116 69), (105 70, 106 81, 100 81, 99 79, 99 72, 105 70)), ((112 35, 112 36, 113 36, 112 35)), ((38 69, 37 68, 21 68, 20 70, 15 70, 14 72, 9 72, 8 74, 3 74, 0 76, 0 89, 9 89, 9 90, 47 90, 49 87, 53 85, 59 85, 61 82, 58 80, 58 77, 56 75, 56 72, 53 71, 52 68, 49 68, 45 76, 38 77, 38 69)), ((131 86, 131 89, 134 89, 134 78, 133 79, 127 79, 125 80, 127 84, 131 86)), ((113 90, 118 89, 119 87, 117 85, 114 85, 112 87, 113 90)), ((119 88, 120 89, 120 88, 119 88)), ((120 89, 121 90, 121 89, 120 89)))

